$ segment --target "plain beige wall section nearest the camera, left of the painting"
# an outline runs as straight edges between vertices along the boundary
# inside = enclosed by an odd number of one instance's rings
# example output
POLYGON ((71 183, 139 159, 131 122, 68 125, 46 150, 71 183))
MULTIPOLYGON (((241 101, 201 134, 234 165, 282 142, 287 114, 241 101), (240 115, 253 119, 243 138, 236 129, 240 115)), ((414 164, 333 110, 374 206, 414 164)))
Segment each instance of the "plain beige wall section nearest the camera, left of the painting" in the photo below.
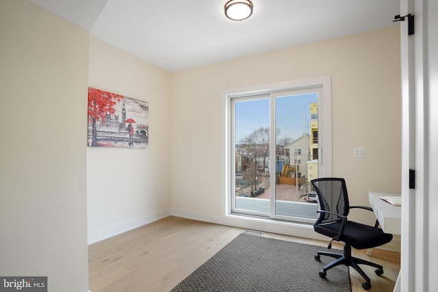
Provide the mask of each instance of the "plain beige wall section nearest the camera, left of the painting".
POLYGON ((0 40, 0 275, 88 291, 88 31, 2 0, 0 40))

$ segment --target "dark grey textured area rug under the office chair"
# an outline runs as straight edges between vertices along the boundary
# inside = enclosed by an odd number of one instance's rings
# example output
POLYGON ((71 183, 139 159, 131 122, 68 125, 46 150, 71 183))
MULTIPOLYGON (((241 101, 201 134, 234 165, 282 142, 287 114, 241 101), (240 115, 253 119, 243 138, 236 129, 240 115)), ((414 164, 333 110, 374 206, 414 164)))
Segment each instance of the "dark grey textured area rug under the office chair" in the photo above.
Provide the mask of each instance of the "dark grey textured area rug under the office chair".
POLYGON ((316 261, 314 255, 318 250, 327 249, 240 234, 172 292, 351 292, 348 267, 344 265, 327 271, 327 278, 320 277, 318 271, 333 258, 321 256, 321 261, 316 261))

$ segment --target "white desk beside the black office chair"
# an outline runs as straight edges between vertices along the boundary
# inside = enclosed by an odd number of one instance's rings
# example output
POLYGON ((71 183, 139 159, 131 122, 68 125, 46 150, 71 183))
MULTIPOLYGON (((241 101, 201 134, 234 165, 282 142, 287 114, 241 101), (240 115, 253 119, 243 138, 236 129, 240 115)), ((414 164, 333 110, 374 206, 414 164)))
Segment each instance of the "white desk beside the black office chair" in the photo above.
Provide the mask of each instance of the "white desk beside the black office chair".
POLYGON ((385 233, 395 235, 402 234, 402 207, 395 207, 378 197, 395 197, 401 196, 400 193, 388 193, 383 191, 370 191, 368 199, 372 207, 372 211, 376 215, 378 223, 385 233))

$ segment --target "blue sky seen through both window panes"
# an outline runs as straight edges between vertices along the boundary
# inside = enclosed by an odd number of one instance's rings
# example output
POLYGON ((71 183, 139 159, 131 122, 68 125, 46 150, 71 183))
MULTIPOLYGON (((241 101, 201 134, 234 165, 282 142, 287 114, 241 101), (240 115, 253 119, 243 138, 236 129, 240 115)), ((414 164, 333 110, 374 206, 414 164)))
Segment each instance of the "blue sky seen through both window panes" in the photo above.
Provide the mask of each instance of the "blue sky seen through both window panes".
MULTIPOLYGON (((282 96, 275 98, 276 128, 281 138, 298 139, 302 133, 309 133, 310 103, 317 103, 316 93, 282 96)), ((269 127, 269 98, 235 103, 235 125, 237 143, 260 127, 269 127)))

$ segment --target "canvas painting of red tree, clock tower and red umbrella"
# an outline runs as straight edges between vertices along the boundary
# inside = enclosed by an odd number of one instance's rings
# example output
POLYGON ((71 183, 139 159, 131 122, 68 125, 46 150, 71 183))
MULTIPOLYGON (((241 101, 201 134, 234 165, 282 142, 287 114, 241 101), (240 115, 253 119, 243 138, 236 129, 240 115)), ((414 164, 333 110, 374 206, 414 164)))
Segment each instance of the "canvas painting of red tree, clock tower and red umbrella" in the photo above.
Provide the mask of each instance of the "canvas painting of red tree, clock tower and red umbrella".
POLYGON ((149 146, 149 103, 88 88, 88 146, 149 146))

